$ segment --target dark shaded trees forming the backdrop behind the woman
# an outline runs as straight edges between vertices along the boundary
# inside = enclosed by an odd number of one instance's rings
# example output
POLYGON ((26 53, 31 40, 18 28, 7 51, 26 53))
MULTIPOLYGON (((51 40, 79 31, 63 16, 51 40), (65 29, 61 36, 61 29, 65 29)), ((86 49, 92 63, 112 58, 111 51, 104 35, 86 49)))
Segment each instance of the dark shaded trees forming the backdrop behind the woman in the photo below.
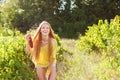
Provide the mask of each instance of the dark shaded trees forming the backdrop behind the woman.
POLYGON ((61 37, 77 38, 98 19, 119 15, 118 4, 118 0, 2 0, 0 26, 25 33, 47 20, 61 37))

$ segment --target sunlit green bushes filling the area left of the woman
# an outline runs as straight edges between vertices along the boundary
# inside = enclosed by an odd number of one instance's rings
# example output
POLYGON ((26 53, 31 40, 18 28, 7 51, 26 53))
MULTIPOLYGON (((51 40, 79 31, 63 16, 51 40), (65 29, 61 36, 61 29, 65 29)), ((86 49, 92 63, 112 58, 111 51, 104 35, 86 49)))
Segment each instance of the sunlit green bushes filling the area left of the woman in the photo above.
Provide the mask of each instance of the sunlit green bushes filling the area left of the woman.
POLYGON ((25 54, 24 36, 17 30, 1 29, 0 80, 34 79, 34 65, 25 54))

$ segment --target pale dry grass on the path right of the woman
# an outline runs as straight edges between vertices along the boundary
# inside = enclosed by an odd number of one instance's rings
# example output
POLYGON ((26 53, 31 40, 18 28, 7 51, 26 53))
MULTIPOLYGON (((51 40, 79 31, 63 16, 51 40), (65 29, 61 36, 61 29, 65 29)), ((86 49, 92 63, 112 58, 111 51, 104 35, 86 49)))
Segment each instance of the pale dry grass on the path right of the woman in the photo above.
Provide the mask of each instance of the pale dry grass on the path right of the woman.
POLYGON ((120 69, 112 68, 108 58, 77 51, 75 43, 74 39, 62 39, 63 47, 73 54, 64 53, 57 80, 120 80, 120 72, 116 71, 120 69))

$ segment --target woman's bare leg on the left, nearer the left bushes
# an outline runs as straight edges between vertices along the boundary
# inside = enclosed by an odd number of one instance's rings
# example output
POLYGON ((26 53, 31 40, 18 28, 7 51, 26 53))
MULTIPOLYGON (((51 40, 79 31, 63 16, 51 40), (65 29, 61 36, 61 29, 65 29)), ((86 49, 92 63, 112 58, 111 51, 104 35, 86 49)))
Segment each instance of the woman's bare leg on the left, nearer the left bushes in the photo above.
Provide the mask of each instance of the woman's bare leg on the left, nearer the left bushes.
POLYGON ((42 67, 37 67, 37 76, 39 78, 39 80, 46 80, 46 68, 42 68, 42 67))

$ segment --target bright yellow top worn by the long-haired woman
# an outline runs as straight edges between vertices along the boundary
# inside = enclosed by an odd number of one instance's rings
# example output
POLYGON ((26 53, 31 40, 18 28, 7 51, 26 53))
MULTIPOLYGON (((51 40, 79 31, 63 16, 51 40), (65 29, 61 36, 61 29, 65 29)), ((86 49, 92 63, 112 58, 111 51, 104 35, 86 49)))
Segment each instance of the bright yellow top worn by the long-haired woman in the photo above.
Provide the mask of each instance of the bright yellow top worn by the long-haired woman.
POLYGON ((48 67, 50 64, 50 58, 53 59, 53 64, 56 63, 57 42, 55 39, 52 39, 52 49, 53 49, 53 52, 49 57, 48 44, 45 46, 42 46, 40 49, 39 58, 35 62, 36 63, 35 66, 48 67))

